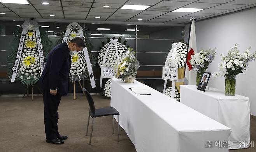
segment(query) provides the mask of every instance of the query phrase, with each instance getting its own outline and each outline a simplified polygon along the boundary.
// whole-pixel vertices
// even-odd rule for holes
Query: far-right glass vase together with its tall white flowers
[[[214,72],[213,77],[224,76],[225,79],[225,95],[235,96],[235,77],[239,73],[243,73],[249,62],[256,59],[256,52],[250,53],[249,47],[243,54],[237,49],[237,44],[234,48],[228,51],[226,56],[221,54],[222,61],[219,67],[219,72]]]

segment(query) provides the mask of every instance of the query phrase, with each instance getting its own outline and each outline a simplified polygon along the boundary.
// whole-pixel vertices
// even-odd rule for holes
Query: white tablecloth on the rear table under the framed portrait
[[[225,96],[223,91],[210,87],[205,92],[195,85],[182,85],[181,103],[228,126],[232,129],[229,137],[230,149],[240,149],[235,144],[250,141],[250,102],[249,98],[236,95]],[[247,148],[247,147],[244,147]]]

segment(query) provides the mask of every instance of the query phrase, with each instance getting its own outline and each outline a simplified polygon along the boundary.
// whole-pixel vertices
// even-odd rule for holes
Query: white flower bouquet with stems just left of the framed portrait
[[[196,86],[200,83],[203,72],[205,72],[209,64],[214,60],[216,55],[216,48],[203,50],[201,49],[199,53],[195,53],[191,56],[189,62],[191,63],[193,69],[196,71]]]

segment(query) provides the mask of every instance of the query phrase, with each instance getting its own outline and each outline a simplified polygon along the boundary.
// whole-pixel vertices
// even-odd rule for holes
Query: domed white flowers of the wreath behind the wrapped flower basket
[[[105,63],[103,63],[103,59],[105,56],[105,53],[107,51],[107,48],[109,47],[109,51],[107,52],[107,56],[105,59]],[[127,51],[127,47],[125,47],[125,45],[117,42],[117,52],[118,52],[118,56],[123,56]],[[98,56],[98,64],[99,66],[103,65],[103,66],[107,66],[107,67],[113,67],[114,63],[116,62],[116,47],[114,43],[107,43],[105,44],[102,49],[100,50],[99,56]]]

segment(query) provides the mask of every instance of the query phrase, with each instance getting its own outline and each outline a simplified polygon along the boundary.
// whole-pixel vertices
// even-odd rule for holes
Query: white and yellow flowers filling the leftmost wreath
[[[37,75],[41,74],[39,53],[37,51],[37,42],[34,31],[26,31],[26,36],[21,54],[21,62],[19,63],[20,78],[37,79]]]

